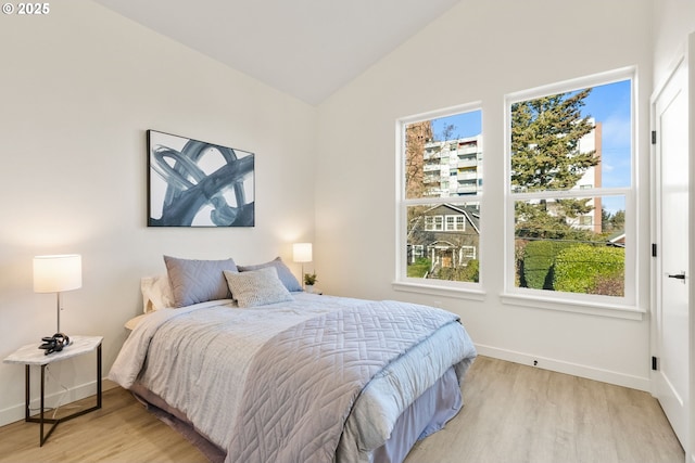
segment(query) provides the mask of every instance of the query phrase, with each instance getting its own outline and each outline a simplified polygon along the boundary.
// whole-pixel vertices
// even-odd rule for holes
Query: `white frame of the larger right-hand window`
[[[624,188],[580,188],[577,190],[545,190],[541,192],[515,192],[511,188],[511,105],[521,101],[534,100],[542,97],[563,92],[572,92],[590,87],[630,80],[630,115],[631,115],[631,146],[630,146],[630,184]],[[636,112],[636,68],[626,67],[607,73],[566,80],[548,86],[536,87],[508,93],[504,98],[504,137],[505,137],[505,177],[504,177],[504,290],[502,300],[506,304],[520,305],[535,308],[556,309],[563,311],[576,311],[583,313],[602,314],[628,319],[641,319],[644,309],[637,307],[637,271],[639,256],[636,246],[640,242],[637,235],[637,127]],[[626,201],[626,243],[624,263],[624,295],[604,296],[580,293],[566,293],[547,290],[534,290],[517,287],[515,262],[515,202],[543,198],[570,198],[570,197],[606,197],[624,196]]]

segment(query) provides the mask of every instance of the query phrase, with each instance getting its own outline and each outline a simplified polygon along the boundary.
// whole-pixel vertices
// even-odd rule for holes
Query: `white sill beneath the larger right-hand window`
[[[558,300],[538,296],[505,293],[500,296],[503,304],[529,307],[533,309],[559,310],[563,312],[585,313],[623,320],[644,320],[645,311],[633,306],[619,304],[596,304],[581,300]]]

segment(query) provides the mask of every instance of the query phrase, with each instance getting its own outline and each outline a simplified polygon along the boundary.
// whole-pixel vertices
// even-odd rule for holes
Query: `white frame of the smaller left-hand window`
[[[396,160],[396,223],[395,223],[395,280],[392,283],[392,286],[396,291],[419,293],[419,294],[430,294],[437,296],[451,296],[455,294],[458,297],[463,297],[471,300],[483,300],[485,293],[483,291],[483,281],[482,281],[482,272],[480,272],[479,281],[476,282],[459,282],[459,281],[447,281],[447,280],[424,280],[424,279],[415,279],[407,276],[407,208],[408,206],[418,206],[418,205],[434,205],[434,204],[468,204],[476,203],[482,209],[482,192],[464,195],[464,196],[455,196],[455,197],[421,197],[421,198],[407,198],[406,197],[406,181],[405,181],[405,153],[406,153],[406,137],[405,137],[405,128],[408,125],[417,124],[426,120],[438,119],[442,117],[447,117],[462,113],[471,113],[480,111],[481,119],[482,119],[482,102],[475,101],[462,105],[450,106],[442,110],[437,110],[428,113],[421,113],[418,115],[413,115],[408,117],[403,117],[396,120],[395,124],[395,160]],[[483,140],[483,150],[484,150],[484,127],[481,120],[481,129],[480,137]],[[484,157],[483,157],[484,159]],[[484,160],[483,160],[484,162]],[[484,168],[483,168],[484,171]],[[483,182],[484,183],[484,182]],[[454,198],[455,201],[452,201]],[[446,219],[445,216],[441,216],[443,218],[442,221],[442,230],[446,231]],[[482,222],[482,218],[481,218]],[[481,227],[482,228],[482,227]],[[458,230],[455,230],[458,231]],[[465,230],[464,230],[465,231]],[[482,247],[483,242],[482,233],[479,235],[478,248]],[[480,262],[482,267],[482,261]]]

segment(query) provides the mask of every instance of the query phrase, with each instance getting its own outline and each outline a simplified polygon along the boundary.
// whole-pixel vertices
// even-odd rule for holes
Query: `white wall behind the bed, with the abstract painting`
[[[104,336],[105,375],[162,254],[291,260],[313,239],[315,107],[91,1],[3,15],[0,43],[0,358],[55,331],[55,296],[31,292],[35,255],[83,255],[62,329]],[[255,228],[147,228],[147,129],[254,152]],[[93,363],[51,366],[50,391],[56,378],[96,390]],[[0,424],[24,416],[23,373],[0,363]]]

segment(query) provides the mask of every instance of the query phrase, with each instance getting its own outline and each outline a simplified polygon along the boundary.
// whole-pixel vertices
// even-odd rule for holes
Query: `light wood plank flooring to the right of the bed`
[[[464,409],[405,463],[682,463],[647,393],[479,357]]]

